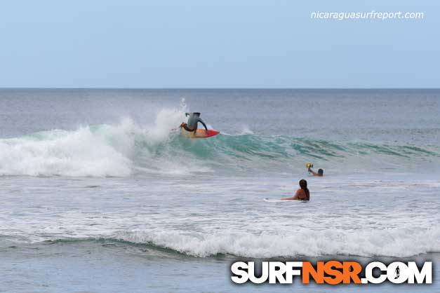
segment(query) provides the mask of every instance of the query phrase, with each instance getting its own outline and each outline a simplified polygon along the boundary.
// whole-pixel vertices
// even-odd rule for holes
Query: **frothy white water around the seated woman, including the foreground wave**
[[[440,207],[435,202],[440,184],[435,179],[306,179],[309,203],[262,200],[292,193],[297,187],[288,178],[266,182],[236,177],[227,184],[212,175],[192,182],[152,177],[108,184],[93,179],[76,191],[61,189],[50,196],[29,189],[20,196],[26,205],[4,205],[11,208],[0,219],[0,234],[26,243],[111,238],[196,257],[440,252]],[[5,185],[13,189],[7,181]],[[417,193],[418,198],[411,196]]]

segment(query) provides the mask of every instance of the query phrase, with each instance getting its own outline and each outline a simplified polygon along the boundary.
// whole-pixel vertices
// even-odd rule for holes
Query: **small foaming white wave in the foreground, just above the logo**
[[[194,257],[232,254],[238,257],[317,257],[352,255],[361,257],[411,257],[440,252],[440,229],[389,229],[346,231],[300,229],[295,236],[262,233],[181,233],[180,231],[133,231],[118,233],[117,240],[168,248]]]

